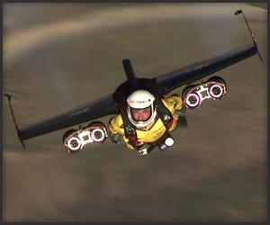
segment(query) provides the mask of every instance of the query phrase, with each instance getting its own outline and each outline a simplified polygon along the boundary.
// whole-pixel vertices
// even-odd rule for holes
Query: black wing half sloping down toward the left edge
[[[112,99],[112,94],[106,95],[91,103],[85,103],[73,110],[64,112],[47,121],[41,121],[23,129],[17,129],[19,138],[23,142],[24,139],[49,133],[54,130],[64,129],[85,121],[92,121],[97,118],[117,114],[118,109]]]

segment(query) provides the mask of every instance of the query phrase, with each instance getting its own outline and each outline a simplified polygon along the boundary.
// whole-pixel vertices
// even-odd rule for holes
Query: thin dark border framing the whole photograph
[[[0,22],[1,22],[1,27],[0,27],[0,31],[1,31],[1,62],[0,62],[0,68],[1,68],[1,73],[0,73],[0,124],[1,124],[1,128],[0,128],[0,168],[1,168],[1,176],[0,176],[0,223],[3,224],[7,224],[7,222],[3,222],[3,5],[4,3],[249,3],[249,4],[254,4],[254,5],[258,5],[258,4],[267,4],[267,37],[269,37],[269,4],[268,4],[268,0],[224,0],[224,1],[217,1],[217,0],[205,0],[203,2],[199,1],[199,0],[169,0],[169,1],[165,1],[165,0],[49,0],[49,1],[45,1],[45,0],[1,0],[1,4],[0,4]],[[268,40],[268,39],[267,39]],[[203,222],[203,224],[219,224],[219,225],[228,225],[228,224],[269,224],[270,220],[269,220],[269,216],[270,216],[270,210],[269,210],[269,202],[270,202],[270,194],[269,194],[269,139],[268,139],[268,128],[269,128],[269,103],[268,103],[268,96],[269,96],[269,82],[270,79],[268,78],[268,72],[269,72],[269,64],[268,64],[268,56],[269,56],[269,44],[267,42],[267,171],[266,171],[266,188],[267,188],[267,220],[265,222]],[[17,223],[17,222],[16,222]],[[39,224],[42,223],[46,223],[46,222],[39,222]],[[84,222],[84,223],[91,223],[91,222]],[[104,222],[101,222],[104,223]],[[133,223],[133,222],[127,222],[127,223]],[[168,224],[169,222],[161,222],[161,224]],[[202,224],[202,222],[189,222],[189,223],[185,223],[185,222],[179,222],[181,224]],[[8,222],[8,224],[14,224],[13,222]],[[34,223],[35,224],[35,223]],[[76,222],[65,222],[65,224],[76,224]]]

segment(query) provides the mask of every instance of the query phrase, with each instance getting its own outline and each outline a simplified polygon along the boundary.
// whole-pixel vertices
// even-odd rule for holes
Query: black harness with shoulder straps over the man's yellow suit
[[[171,112],[168,111],[168,109],[161,100],[162,96],[158,91],[156,80],[140,78],[138,79],[138,83],[138,89],[147,90],[155,96],[157,110],[156,120],[160,119],[166,126],[166,131],[169,130],[173,124],[173,115]],[[130,83],[125,82],[116,89],[113,94],[113,98],[115,103],[117,103],[119,111],[121,112],[125,137],[126,139],[129,139],[129,144],[133,148],[138,148],[141,143],[138,141],[136,127],[129,120],[127,113],[128,104],[126,103],[127,97],[134,91],[136,90],[131,88]]]

